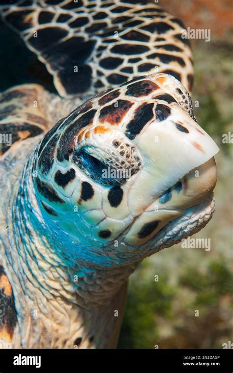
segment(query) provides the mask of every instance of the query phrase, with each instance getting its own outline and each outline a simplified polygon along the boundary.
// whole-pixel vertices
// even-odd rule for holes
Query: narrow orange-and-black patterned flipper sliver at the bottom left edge
[[[3,266],[0,264],[0,348],[11,348],[16,325],[14,295]]]

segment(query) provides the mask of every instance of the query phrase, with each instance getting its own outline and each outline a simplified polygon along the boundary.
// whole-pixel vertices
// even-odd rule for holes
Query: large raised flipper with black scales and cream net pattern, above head
[[[153,2],[10,4],[5,0],[0,7],[3,21],[46,65],[62,97],[91,97],[155,72],[173,75],[189,92],[192,88],[192,55],[182,38],[184,26]]]

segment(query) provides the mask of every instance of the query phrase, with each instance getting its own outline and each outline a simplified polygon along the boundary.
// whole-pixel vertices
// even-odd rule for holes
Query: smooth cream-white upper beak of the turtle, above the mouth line
[[[144,164],[141,172],[135,175],[129,192],[128,204],[133,215],[145,211],[151,203],[192,170],[198,171],[198,167],[211,160],[219,148],[181,107],[175,105],[166,120],[148,125],[139,138],[137,150]],[[192,192],[196,201],[200,197],[200,188],[203,185],[211,190],[216,183],[214,160],[206,163],[199,171],[204,174],[202,182],[198,182],[199,176],[192,177],[193,185],[197,187],[196,192]],[[213,177],[208,180],[209,173],[213,174]],[[198,172],[196,174],[198,175]],[[188,193],[188,190],[186,192]]]

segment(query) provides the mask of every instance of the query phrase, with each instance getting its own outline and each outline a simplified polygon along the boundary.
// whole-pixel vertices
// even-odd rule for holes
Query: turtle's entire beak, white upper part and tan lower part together
[[[137,149],[144,164],[129,190],[128,205],[135,219],[125,241],[140,246],[169,222],[185,216],[188,209],[212,196],[217,180],[213,156],[219,148],[176,105],[169,120],[147,127]]]

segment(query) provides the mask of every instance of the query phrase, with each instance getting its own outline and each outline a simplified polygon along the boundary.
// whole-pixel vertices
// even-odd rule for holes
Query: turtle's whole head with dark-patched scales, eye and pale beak
[[[78,247],[140,260],[211,218],[217,152],[178,80],[139,77],[90,99],[46,134],[37,198],[54,229]]]

